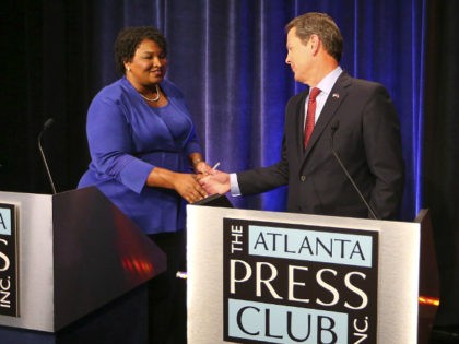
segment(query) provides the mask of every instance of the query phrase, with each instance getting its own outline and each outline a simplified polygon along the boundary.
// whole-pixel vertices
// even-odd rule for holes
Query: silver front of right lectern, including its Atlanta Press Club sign
[[[416,343],[419,224],[187,211],[188,343]]]

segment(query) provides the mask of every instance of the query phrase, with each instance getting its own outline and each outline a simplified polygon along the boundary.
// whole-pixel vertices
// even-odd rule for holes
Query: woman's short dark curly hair
[[[156,43],[167,55],[167,41],[164,35],[152,26],[136,26],[121,29],[115,40],[115,64],[121,73],[126,73],[125,62],[131,61],[136,50],[144,39],[151,39]]]

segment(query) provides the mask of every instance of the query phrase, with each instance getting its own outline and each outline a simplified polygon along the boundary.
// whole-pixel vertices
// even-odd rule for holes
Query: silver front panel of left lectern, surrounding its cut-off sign
[[[0,192],[14,204],[17,226],[19,317],[0,316],[3,325],[54,329],[52,197]]]

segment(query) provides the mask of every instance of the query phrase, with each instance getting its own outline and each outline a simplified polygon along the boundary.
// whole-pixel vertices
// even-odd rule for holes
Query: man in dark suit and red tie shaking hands
[[[222,194],[229,189],[233,194],[254,194],[289,185],[290,212],[397,218],[404,165],[388,92],[341,69],[343,39],[327,14],[303,14],[285,32],[285,62],[310,92],[287,103],[280,162],[232,175],[213,171],[200,183],[208,193]]]

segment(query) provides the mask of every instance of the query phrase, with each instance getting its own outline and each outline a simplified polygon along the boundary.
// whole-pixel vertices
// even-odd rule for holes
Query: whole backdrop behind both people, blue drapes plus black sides
[[[0,189],[24,192],[50,192],[36,142],[49,117],[44,147],[58,191],[73,189],[85,170],[86,109],[118,78],[113,43],[123,26],[166,35],[167,78],[186,94],[210,163],[226,171],[275,163],[284,106],[305,88],[284,62],[284,25],[303,12],[329,13],[345,39],[342,67],[393,98],[407,164],[402,218],[432,209],[442,273],[454,275],[443,284],[439,318],[459,322],[457,2],[22,0],[0,11]],[[232,201],[283,211],[285,189]]]

